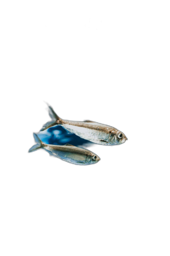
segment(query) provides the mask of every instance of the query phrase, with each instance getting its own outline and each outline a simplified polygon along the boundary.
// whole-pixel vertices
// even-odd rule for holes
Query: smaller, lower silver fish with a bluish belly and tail
[[[70,144],[63,146],[49,145],[43,143],[37,134],[33,134],[36,145],[32,146],[28,152],[32,152],[38,149],[45,149],[51,156],[57,157],[68,163],[74,163],[77,165],[88,165],[99,162],[100,158],[84,148],[78,148]]]

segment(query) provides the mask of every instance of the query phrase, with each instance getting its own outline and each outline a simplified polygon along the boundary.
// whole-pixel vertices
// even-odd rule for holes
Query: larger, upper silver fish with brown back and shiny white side
[[[127,140],[125,134],[108,125],[102,125],[89,120],[84,122],[62,120],[57,116],[51,106],[48,106],[48,114],[52,121],[46,122],[40,131],[44,131],[55,125],[61,125],[68,132],[97,144],[119,145]]]

